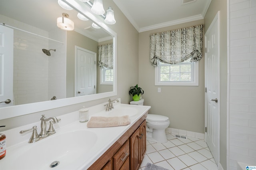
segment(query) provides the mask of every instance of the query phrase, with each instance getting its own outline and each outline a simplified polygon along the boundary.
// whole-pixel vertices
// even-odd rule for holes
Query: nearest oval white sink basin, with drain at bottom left
[[[48,138],[27,144],[23,148],[20,146],[13,153],[9,152],[11,157],[8,158],[10,162],[8,169],[20,170],[20,167],[26,170],[68,169],[72,165],[76,166],[74,162],[94,146],[96,140],[96,134],[88,130],[62,134],[57,132]],[[59,165],[50,168],[50,164],[54,161],[59,161]]]

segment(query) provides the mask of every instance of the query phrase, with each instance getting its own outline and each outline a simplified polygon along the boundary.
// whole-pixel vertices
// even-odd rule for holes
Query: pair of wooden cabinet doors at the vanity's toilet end
[[[146,152],[146,121],[130,136],[130,168],[138,170]]]

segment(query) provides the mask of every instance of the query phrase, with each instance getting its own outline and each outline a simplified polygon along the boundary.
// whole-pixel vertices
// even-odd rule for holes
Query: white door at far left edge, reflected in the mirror
[[[10,99],[10,103],[5,103]],[[0,107],[13,105],[13,30],[0,25]]]

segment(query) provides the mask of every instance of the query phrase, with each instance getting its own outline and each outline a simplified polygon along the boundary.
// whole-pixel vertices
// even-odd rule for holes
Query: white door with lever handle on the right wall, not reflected
[[[220,69],[219,69],[219,12],[205,36],[205,126],[206,143],[216,164],[219,162],[220,141]]]

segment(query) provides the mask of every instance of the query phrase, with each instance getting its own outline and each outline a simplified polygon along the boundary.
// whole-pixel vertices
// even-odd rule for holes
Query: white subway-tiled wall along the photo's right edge
[[[229,164],[256,165],[256,0],[230,0]]]

